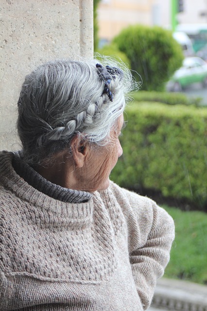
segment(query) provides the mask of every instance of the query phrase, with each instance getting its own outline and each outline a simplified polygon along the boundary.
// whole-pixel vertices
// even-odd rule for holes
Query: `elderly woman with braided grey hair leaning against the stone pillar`
[[[22,151],[0,153],[0,310],[142,311],[174,225],[109,174],[122,154],[127,70],[57,60],[26,76]]]

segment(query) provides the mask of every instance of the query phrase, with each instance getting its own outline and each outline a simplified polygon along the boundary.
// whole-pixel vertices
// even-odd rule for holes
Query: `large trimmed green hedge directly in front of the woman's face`
[[[111,178],[122,187],[207,206],[207,108],[135,103],[126,109],[123,155]]]

